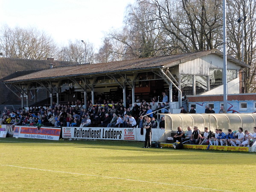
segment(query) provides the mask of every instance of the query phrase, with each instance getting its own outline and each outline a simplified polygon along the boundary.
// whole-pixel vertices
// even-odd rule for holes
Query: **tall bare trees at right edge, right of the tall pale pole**
[[[256,2],[255,0],[227,1],[228,54],[242,60],[242,30],[244,33],[244,62],[250,69],[244,70],[245,92],[256,92]],[[244,16],[247,16],[243,20]],[[242,22],[237,20],[242,18]]]

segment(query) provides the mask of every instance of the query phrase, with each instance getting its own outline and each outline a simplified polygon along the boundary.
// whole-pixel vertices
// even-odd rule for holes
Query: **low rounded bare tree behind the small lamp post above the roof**
[[[58,52],[58,60],[74,61],[79,63],[93,63],[94,50],[93,45],[89,42],[85,45],[80,41],[69,41],[67,46],[61,47]]]

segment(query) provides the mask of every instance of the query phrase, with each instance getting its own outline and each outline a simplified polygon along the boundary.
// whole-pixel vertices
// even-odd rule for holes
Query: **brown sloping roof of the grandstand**
[[[12,82],[22,82],[22,81],[36,81],[42,79],[58,79],[64,78],[67,76],[87,76],[87,75],[96,75],[96,74],[105,74],[121,71],[134,71],[134,70],[143,70],[149,68],[162,68],[162,67],[171,67],[182,62],[199,58],[204,55],[215,53],[217,55],[223,55],[222,52],[217,49],[201,51],[201,52],[192,52],[179,55],[168,55],[168,56],[158,56],[150,58],[139,58],[134,60],[126,61],[115,61],[110,63],[99,63],[99,64],[86,64],[74,66],[56,66],[52,69],[46,69],[37,71],[35,73],[19,76],[13,79],[6,80],[6,83]],[[239,64],[241,67],[250,67],[249,65],[228,56],[227,59],[232,61],[235,64]]]

